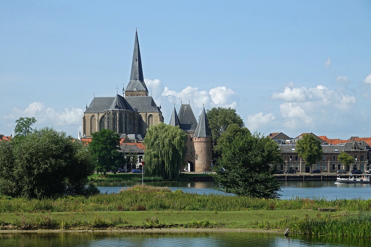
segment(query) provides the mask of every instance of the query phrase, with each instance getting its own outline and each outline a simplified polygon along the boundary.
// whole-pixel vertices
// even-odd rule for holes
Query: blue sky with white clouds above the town
[[[369,0],[0,0],[0,134],[35,117],[77,137],[93,96],[127,86],[136,29],[165,123],[189,101],[263,135],[371,136]]]

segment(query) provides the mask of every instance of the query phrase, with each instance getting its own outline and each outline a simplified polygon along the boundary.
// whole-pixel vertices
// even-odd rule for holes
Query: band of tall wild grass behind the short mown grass
[[[336,210],[370,211],[371,200],[324,198],[290,200],[259,199],[248,196],[199,195],[172,192],[168,188],[136,185],[118,194],[98,194],[90,197],[65,196],[26,200],[0,197],[0,213],[15,212],[83,212],[83,211],[143,211],[143,210],[197,210],[197,211],[242,211],[242,210],[317,210],[321,207]]]

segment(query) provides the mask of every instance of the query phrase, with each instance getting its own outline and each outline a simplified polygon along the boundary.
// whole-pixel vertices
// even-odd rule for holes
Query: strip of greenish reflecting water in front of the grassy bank
[[[114,232],[114,233],[9,233],[0,234],[0,246],[63,246],[63,247],[134,247],[134,246],[368,246],[367,240],[354,238],[294,236],[284,237],[274,233],[246,232],[164,232],[144,233]]]

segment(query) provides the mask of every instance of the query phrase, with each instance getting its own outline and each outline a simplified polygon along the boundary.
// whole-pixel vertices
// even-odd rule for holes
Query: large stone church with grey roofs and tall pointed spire
[[[82,118],[82,133],[91,138],[92,133],[110,129],[118,134],[145,135],[151,125],[164,122],[161,106],[157,106],[144,83],[138,34],[135,31],[134,52],[128,86],[122,95],[95,97],[86,106]]]

